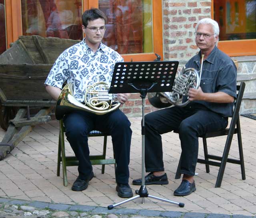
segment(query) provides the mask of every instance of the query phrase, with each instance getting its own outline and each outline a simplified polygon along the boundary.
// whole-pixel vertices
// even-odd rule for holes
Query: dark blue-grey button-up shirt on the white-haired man
[[[200,72],[201,53],[191,58],[186,68],[195,68]],[[229,56],[216,46],[203,62],[200,87],[203,92],[225,92],[236,98],[236,66]],[[232,116],[234,103],[214,103],[206,101],[193,101],[189,104],[203,104],[209,110],[221,114],[223,117]]]

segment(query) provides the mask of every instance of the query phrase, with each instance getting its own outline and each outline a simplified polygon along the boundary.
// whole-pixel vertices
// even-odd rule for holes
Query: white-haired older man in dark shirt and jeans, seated
[[[196,25],[195,40],[200,52],[192,57],[186,68],[199,71],[204,54],[202,77],[198,89],[190,88],[189,103],[174,106],[145,116],[145,184],[168,184],[164,172],[161,134],[178,129],[182,148],[180,186],[176,196],[185,196],[196,190],[194,175],[198,157],[198,137],[206,132],[220,130],[228,125],[236,98],[236,66],[217,48],[219,26],[210,18]],[[135,185],[141,179],[133,180]]]

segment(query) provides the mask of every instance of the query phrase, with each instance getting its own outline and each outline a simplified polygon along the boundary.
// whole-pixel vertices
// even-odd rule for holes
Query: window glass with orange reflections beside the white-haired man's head
[[[214,0],[220,40],[256,38],[256,0]]]

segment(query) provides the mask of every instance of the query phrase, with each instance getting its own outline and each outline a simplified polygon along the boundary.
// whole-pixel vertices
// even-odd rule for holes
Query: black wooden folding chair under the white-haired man
[[[233,115],[232,115],[232,119],[231,119],[229,128],[226,128],[226,129],[220,130],[220,131],[216,131],[216,132],[208,132],[205,135],[200,136],[203,139],[204,159],[198,158],[197,162],[201,163],[201,164],[205,164],[207,173],[210,172],[209,165],[220,167],[219,172],[218,172],[218,177],[216,180],[216,184],[215,184],[215,188],[218,188],[221,186],[221,182],[222,182],[222,178],[223,178],[223,174],[224,174],[224,170],[225,170],[227,162],[232,163],[232,164],[239,164],[241,166],[242,180],[245,180],[244,155],[243,155],[243,148],[242,148],[240,120],[239,120],[239,109],[240,109],[242,97],[244,94],[244,88],[245,88],[244,82],[241,82],[241,84],[239,86],[236,86],[236,90],[238,93],[237,93],[237,98],[236,98],[234,111],[233,111]],[[174,131],[174,132],[178,133],[178,131]],[[239,159],[228,158],[233,134],[237,134]],[[212,138],[212,137],[217,137],[217,136],[227,136],[226,144],[225,144],[222,156],[208,154],[206,138]],[[218,162],[211,161],[211,160],[217,160]],[[181,176],[180,171],[181,171],[181,158],[180,158],[180,161],[178,164],[175,179],[180,178],[180,176]]]

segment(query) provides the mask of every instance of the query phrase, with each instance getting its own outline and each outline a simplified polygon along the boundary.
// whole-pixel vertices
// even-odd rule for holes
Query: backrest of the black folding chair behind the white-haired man
[[[236,86],[236,90],[238,91],[238,93],[236,95],[236,102],[235,102],[235,106],[234,106],[232,120],[230,122],[230,131],[232,133],[234,133],[236,123],[238,122],[238,124],[239,124],[239,110],[240,110],[242,98],[244,95],[244,88],[245,88],[245,82],[241,82],[240,85]]]

